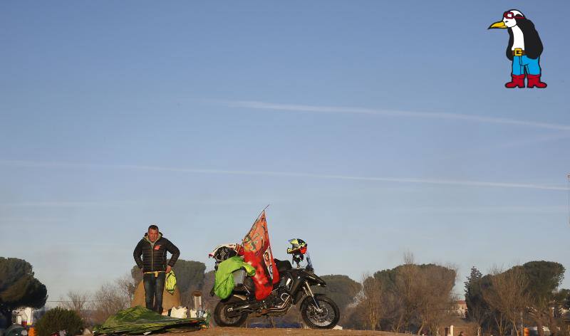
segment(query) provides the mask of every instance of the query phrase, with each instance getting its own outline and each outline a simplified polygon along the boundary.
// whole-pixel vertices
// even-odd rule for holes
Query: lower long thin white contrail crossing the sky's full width
[[[564,190],[564,191],[568,190],[568,188],[566,187],[552,186],[546,184],[484,182],[484,181],[455,180],[455,179],[423,179],[415,177],[360,177],[360,176],[337,175],[337,174],[315,174],[315,173],[306,173],[306,172],[271,172],[271,171],[259,171],[259,170],[193,169],[193,168],[179,168],[179,167],[142,166],[142,165],[132,165],[132,164],[83,164],[83,163],[73,163],[73,162],[36,162],[36,161],[0,160],[0,165],[14,166],[14,167],[32,167],[32,168],[44,167],[44,168],[135,169],[135,170],[148,170],[156,172],[182,172],[182,173],[197,173],[197,174],[252,175],[252,176],[273,176],[273,177],[305,177],[305,178],[316,178],[316,179],[338,179],[338,180],[371,181],[371,182],[442,184],[442,185],[456,185],[464,187],[504,187],[504,188]]]

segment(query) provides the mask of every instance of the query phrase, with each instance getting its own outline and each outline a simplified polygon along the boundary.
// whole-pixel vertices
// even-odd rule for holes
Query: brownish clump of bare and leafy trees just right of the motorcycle
[[[455,317],[454,266],[414,263],[363,276],[362,289],[345,312],[347,327],[437,335]],[[439,332],[440,333],[440,332]]]

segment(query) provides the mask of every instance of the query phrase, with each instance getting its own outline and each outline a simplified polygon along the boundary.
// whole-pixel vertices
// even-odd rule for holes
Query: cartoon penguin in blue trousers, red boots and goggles
[[[546,83],[540,81],[539,63],[543,47],[534,23],[517,9],[511,9],[504,12],[502,21],[489,26],[491,28],[507,28],[509,31],[507,58],[512,61],[512,80],[504,86],[524,88],[526,74],[527,88],[546,88]]]

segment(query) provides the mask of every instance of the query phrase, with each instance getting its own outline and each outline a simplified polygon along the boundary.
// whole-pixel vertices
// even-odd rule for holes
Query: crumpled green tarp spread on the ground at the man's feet
[[[103,325],[95,327],[94,335],[140,335],[145,332],[183,332],[207,327],[203,318],[176,318],[162,316],[140,305],[120,310]]]

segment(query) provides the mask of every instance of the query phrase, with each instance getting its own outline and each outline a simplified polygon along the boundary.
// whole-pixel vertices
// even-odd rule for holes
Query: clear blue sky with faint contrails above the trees
[[[545,90],[507,90],[516,8]],[[156,222],[203,261],[259,211],[316,271],[570,269],[567,1],[3,1],[0,256],[95,290]],[[6,239],[9,236],[11,238]],[[19,238],[14,238],[18,236]],[[564,286],[570,287],[566,272]]]

